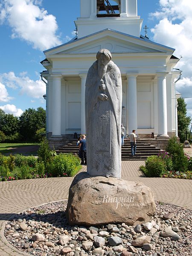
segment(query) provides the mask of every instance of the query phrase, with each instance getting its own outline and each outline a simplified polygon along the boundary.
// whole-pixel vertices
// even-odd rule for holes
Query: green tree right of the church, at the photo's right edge
[[[186,140],[185,132],[189,131],[189,124],[191,122],[191,118],[187,116],[186,103],[183,98],[177,99],[177,122],[178,122],[178,136],[180,138],[180,142],[184,142]]]

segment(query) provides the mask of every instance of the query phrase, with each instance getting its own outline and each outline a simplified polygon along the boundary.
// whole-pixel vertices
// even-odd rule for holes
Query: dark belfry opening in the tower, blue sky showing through
[[[119,17],[120,0],[97,0],[97,17]]]

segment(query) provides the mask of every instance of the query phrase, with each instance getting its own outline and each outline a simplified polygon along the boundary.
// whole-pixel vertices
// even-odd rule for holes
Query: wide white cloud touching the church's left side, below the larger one
[[[46,93],[46,85],[39,78],[34,81],[31,80],[26,73],[20,73],[20,76],[15,76],[14,72],[0,74],[0,81],[7,87],[18,89],[19,94],[26,94],[34,99],[41,99]]]

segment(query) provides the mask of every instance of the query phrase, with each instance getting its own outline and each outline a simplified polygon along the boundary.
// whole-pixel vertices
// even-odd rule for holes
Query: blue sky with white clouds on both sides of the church
[[[0,1],[0,108],[20,116],[28,108],[45,108],[40,72],[43,51],[74,37],[80,0]],[[177,90],[192,96],[191,0],[138,0],[138,15],[148,37],[176,49],[183,70]],[[141,34],[145,35],[144,29]],[[186,99],[192,116],[192,98]]]

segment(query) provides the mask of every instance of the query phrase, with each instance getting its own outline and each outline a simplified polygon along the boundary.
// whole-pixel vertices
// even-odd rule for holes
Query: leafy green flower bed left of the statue
[[[0,181],[71,177],[81,169],[80,162],[73,154],[50,154],[46,162],[33,156],[0,154]]]

